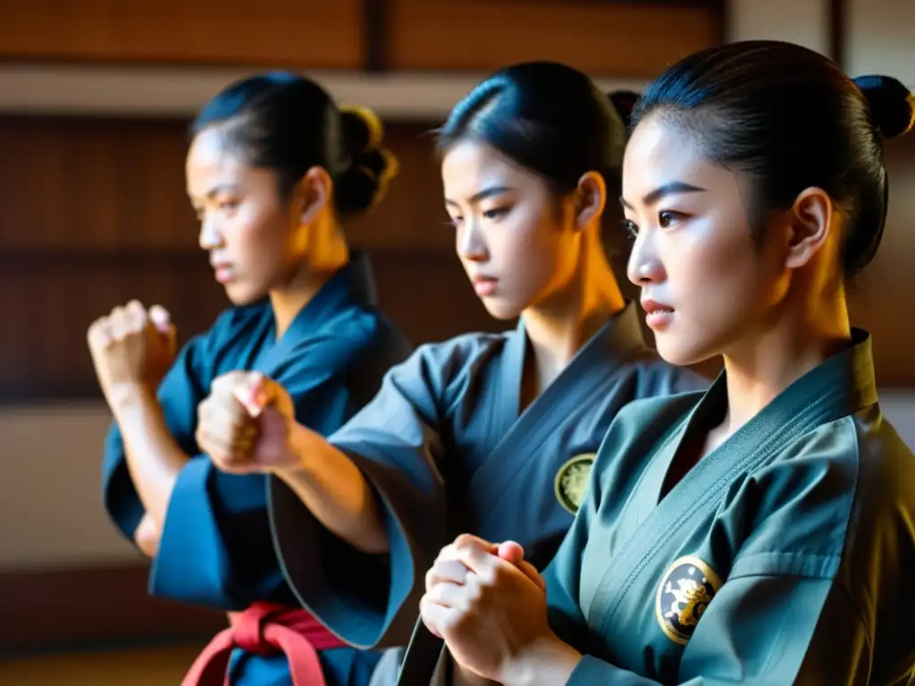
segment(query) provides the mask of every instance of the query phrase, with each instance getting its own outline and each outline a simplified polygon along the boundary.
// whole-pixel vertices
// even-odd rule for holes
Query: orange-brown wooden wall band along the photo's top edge
[[[720,0],[29,0],[0,5],[0,59],[492,70],[560,59],[651,76],[723,38]],[[50,19],[46,17],[51,17]]]

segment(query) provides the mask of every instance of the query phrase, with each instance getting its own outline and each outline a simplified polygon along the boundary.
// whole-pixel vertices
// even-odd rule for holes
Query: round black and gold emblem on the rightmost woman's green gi
[[[697,557],[681,557],[668,567],[654,603],[667,638],[685,646],[719,588],[721,578]]]

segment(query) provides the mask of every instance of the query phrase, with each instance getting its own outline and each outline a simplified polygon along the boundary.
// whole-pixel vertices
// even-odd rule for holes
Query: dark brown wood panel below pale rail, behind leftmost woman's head
[[[353,245],[451,253],[429,128],[388,128],[401,172],[346,227]],[[196,250],[185,131],[174,121],[0,118],[0,251]]]

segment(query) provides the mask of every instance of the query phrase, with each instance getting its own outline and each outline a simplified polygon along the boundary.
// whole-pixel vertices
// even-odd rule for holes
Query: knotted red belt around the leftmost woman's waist
[[[231,627],[203,648],[181,686],[228,686],[232,648],[261,656],[284,653],[293,686],[325,686],[318,650],[346,646],[303,609],[254,603],[229,619]]]

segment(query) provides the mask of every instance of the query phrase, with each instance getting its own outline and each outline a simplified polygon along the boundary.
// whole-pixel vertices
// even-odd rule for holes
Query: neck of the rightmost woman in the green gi
[[[845,293],[818,292],[804,306],[778,313],[778,325],[745,336],[725,353],[727,417],[733,434],[808,371],[848,347]]]

